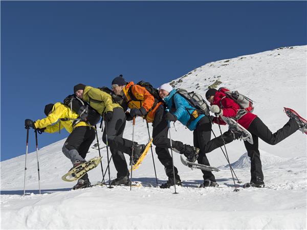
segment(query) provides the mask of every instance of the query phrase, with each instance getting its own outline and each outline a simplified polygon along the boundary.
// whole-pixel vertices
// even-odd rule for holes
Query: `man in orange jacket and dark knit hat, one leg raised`
[[[121,95],[127,101],[130,112],[126,112],[127,120],[134,117],[142,117],[147,123],[152,123],[152,143],[156,146],[158,159],[165,168],[168,180],[162,184],[160,188],[169,188],[174,185],[172,159],[168,149],[170,139],[168,134],[168,121],[165,119],[165,107],[162,100],[155,99],[145,87],[136,85],[134,82],[126,82],[120,75],[112,81],[112,89],[116,95]],[[198,149],[193,146],[184,145],[182,142],[173,141],[172,147],[174,151],[184,154],[189,161],[195,162]],[[181,185],[181,179],[178,170],[174,167],[176,185]]]

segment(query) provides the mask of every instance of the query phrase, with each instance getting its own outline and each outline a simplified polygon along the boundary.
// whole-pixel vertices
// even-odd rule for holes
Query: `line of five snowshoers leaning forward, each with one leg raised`
[[[176,185],[182,184],[178,169],[174,167],[173,170],[172,158],[169,153],[171,148],[170,139],[167,136],[169,122],[179,121],[190,131],[193,131],[193,146],[181,141],[171,140],[173,150],[184,154],[190,162],[195,162],[197,159],[199,164],[209,166],[207,153],[238,139],[239,133],[228,130],[211,140],[212,121],[213,123],[225,124],[218,116],[234,118],[240,110],[239,105],[232,99],[227,98],[222,91],[209,89],[206,92],[206,99],[211,104],[210,110],[216,116],[214,118],[196,110],[184,97],[177,94],[176,89],[173,89],[168,83],[161,85],[158,92],[158,95],[153,95],[152,92],[141,85],[134,84],[132,81],[126,82],[121,75],[113,79],[111,93],[84,84],[74,86],[76,97],[89,103],[105,121],[102,140],[104,143],[108,142],[113,163],[117,170],[117,178],[111,181],[111,185],[130,185],[129,170],[124,153],[129,156],[133,154],[131,158],[136,162],[145,148],[144,144],[123,138],[126,121],[130,121],[134,117],[142,117],[147,123],[152,123],[152,143],[156,146],[158,159],[168,176],[167,182],[163,183],[160,188],[169,188],[174,183]],[[119,96],[122,100],[115,100],[113,96]],[[127,108],[130,109],[129,112],[126,111]],[[95,127],[86,121],[76,122],[79,115],[69,106],[60,102],[46,105],[45,114],[46,118],[35,122],[26,119],[26,128],[31,127],[40,132],[48,133],[65,128],[70,135],[63,145],[63,154],[71,160],[73,167],[85,162],[86,153],[95,139]],[[268,144],[274,145],[296,130],[305,130],[306,127],[302,127],[297,119],[290,119],[286,125],[272,134],[268,127],[251,112],[244,114],[237,119],[237,122],[250,131],[253,137],[252,145],[244,142],[251,159],[251,181],[246,184],[246,187],[264,187],[258,137]],[[106,140],[106,136],[108,140]],[[134,164],[134,162],[131,164]],[[201,187],[218,186],[212,172],[202,172],[204,182]],[[90,185],[86,173],[78,180],[73,189],[86,188]]]

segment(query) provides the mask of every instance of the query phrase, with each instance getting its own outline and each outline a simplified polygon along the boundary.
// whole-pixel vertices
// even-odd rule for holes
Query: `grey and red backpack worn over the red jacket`
[[[228,88],[225,87],[221,87],[217,91],[226,94],[226,97],[232,99],[235,103],[237,103],[240,106],[241,109],[244,109],[247,112],[252,112],[254,110],[254,105],[253,105],[254,102],[245,95],[240,94],[238,91],[230,91]]]

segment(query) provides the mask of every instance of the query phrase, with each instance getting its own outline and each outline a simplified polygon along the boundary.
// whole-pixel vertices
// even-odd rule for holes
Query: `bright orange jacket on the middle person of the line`
[[[156,110],[163,104],[163,102],[158,102],[155,104],[155,98],[146,90],[146,88],[140,85],[135,85],[133,81],[130,81],[123,88],[123,92],[126,97],[128,107],[143,107],[147,111],[146,116],[143,118],[145,118],[148,123],[153,122]]]

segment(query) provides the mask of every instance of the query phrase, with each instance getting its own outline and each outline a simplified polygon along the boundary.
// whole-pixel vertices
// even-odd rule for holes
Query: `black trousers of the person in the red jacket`
[[[286,125],[277,132],[272,133],[270,129],[256,117],[247,129],[253,136],[254,144],[244,142],[247,154],[251,159],[251,182],[263,181],[264,174],[261,169],[260,153],[258,150],[258,137],[270,145],[276,145],[299,129],[294,119],[290,119]]]

